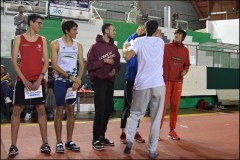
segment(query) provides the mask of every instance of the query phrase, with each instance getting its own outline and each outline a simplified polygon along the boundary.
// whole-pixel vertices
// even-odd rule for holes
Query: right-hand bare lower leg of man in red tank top
[[[40,133],[42,136],[43,144],[47,143],[47,116],[45,112],[44,105],[37,105],[36,106],[38,112],[38,124],[40,127]]]

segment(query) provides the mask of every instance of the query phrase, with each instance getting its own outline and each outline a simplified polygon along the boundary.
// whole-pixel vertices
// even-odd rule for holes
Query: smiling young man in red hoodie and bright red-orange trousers
[[[166,95],[160,129],[162,128],[164,115],[170,101],[170,131],[168,137],[174,140],[180,140],[174,129],[176,128],[178,118],[183,76],[187,74],[190,66],[189,51],[182,43],[185,37],[186,32],[182,29],[177,29],[174,32],[173,42],[165,44],[164,47],[163,78],[166,85]]]

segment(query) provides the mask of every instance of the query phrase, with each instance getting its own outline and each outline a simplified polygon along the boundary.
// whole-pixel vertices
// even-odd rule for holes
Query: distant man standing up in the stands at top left
[[[25,15],[24,7],[18,7],[18,14],[14,16],[14,25],[17,26],[15,36],[21,35],[27,31],[27,15]]]

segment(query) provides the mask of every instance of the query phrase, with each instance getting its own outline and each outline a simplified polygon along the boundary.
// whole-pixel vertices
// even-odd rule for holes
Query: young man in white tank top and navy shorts
[[[53,41],[51,44],[52,67],[55,72],[54,94],[56,100],[56,115],[54,118],[54,127],[57,138],[56,153],[64,153],[62,142],[62,114],[66,103],[67,111],[67,140],[65,148],[79,152],[78,147],[72,141],[74,128],[74,103],[77,90],[81,85],[81,79],[84,71],[83,49],[82,45],[75,41],[77,23],[73,20],[67,20],[62,23],[64,36]],[[77,60],[79,65],[77,65]]]

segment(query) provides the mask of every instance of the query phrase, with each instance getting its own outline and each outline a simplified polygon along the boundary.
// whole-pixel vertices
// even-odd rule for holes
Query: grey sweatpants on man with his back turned
[[[160,121],[164,108],[165,91],[165,86],[133,91],[127,129],[127,141],[134,143],[138,121],[140,118],[144,117],[150,102],[151,128],[148,139],[148,150],[151,153],[157,150]]]

